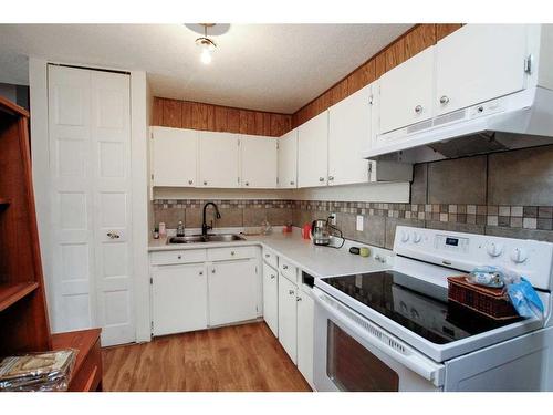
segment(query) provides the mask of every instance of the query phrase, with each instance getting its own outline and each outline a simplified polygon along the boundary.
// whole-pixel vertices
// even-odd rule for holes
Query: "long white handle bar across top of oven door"
[[[315,293],[314,298],[319,305],[321,305],[328,314],[331,314],[336,320],[336,322],[340,322],[340,325],[349,330],[359,339],[363,339],[363,341],[378,349],[380,352],[385,353],[396,362],[410,369],[411,371],[419,374],[427,381],[432,382],[436,386],[442,385],[444,365],[430,361],[428,357],[408,347],[403,342],[394,339],[390,334],[385,332],[378,325],[363,318],[363,320],[366,320],[367,324],[369,324],[376,332],[380,332],[385,336],[385,339],[389,339],[390,341],[400,344],[403,347],[405,347],[406,351],[405,354],[398,352],[396,349],[387,344],[385,341],[377,339],[374,334],[372,334],[365,328],[359,325],[355,320],[349,318],[347,314],[341,312],[340,310],[337,310],[337,308],[328,304],[326,300],[326,298],[328,297],[325,293],[319,291]],[[334,302],[335,300],[331,299],[330,301]]]

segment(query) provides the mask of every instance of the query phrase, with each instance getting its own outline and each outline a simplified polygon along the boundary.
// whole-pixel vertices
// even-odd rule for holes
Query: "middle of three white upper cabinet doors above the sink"
[[[199,187],[239,187],[238,134],[198,133]]]

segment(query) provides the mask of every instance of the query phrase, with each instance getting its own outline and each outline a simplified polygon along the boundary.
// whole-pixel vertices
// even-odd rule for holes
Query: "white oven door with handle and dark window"
[[[317,391],[441,391],[445,366],[314,289]]]

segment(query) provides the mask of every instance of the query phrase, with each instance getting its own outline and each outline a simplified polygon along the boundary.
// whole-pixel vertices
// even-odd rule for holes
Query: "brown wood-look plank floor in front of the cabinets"
[[[104,391],[311,391],[264,322],[102,353]]]

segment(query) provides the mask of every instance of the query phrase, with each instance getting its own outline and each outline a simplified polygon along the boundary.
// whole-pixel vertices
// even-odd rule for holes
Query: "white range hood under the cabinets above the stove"
[[[378,135],[363,157],[422,163],[553,144],[553,91],[535,86]]]

